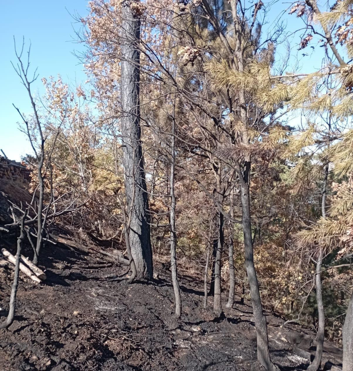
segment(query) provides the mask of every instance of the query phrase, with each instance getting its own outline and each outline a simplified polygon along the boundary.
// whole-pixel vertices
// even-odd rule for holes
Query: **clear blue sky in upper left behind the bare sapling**
[[[61,74],[64,81],[77,83],[85,81],[83,66],[72,55],[81,45],[74,43],[76,35],[71,14],[87,14],[86,0],[32,0],[1,1],[0,22],[0,148],[7,157],[19,160],[21,155],[30,153],[25,135],[18,129],[19,114],[31,112],[25,88],[21,85],[10,61],[15,61],[13,36],[17,45],[22,45],[25,36],[26,46],[31,47],[31,66],[38,67],[39,78],[33,84],[34,93],[43,93],[41,78]],[[66,8],[66,9],[65,9]],[[73,28],[74,27],[74,28]],[[6,133],[6,135],[4,135]]]

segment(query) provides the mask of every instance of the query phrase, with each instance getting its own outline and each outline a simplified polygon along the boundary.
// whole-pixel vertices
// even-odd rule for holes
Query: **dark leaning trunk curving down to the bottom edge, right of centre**
[[[250,297],[253,308],[254,322],[256,328],[256,340],[258,361],[267,371],[277,371],[278,368],[272,363],[268,349],[268,332],[266,317],[263,315],[263,309],[260,299],[259,283],[254,265],[254,253],[252,245],[251,219],[250,219],[250,194],[248,177],[250,173],[250,161],[245,164],[244,182],[241,182],[241,200],[242,200],[242,226],[245,248],[245,269],[250,286]]]

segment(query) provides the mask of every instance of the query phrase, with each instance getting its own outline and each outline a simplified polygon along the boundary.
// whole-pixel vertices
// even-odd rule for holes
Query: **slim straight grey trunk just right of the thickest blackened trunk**
[[[175,114],[175,109],[173,108],[173,116]],[[181,296],[180,288],[178,282],[177,273],[177,233],[175,230],[175,208],[177,201],[174,193],[174,168],[175,168],[175,118],[172,120],[172,138],[171,138],[171,172],[170,172],[170,196],[171,196],[171,211],[170,211],[170,244],[171,244],[171,271],[172,271],[172,282],[174,288],[175,297],[175,314],[177,317],[181,316]]]

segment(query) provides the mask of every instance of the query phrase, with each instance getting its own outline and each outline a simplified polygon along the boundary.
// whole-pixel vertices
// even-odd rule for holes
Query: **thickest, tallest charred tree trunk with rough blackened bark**
[[[129,241],[137,278],[153,278],[150,215],[140,127],[140,19],[123,1],[121,104],[122,146],[127,205],[132,207]],[[131,196],[135,187],[135,200]],[[128,210],[129,213],[129,210]]]

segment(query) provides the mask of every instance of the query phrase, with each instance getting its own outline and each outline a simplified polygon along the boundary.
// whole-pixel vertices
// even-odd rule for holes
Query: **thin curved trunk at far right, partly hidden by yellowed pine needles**
[[[324,183],[322,189],[321,198],[321,213],[323,217],[326,217],[326,190],[327,190],[327,178],[328,178],[328,163],[325,165],[324,170]],[[324,302],[322,294],[322,282],[321,282],[321,267],[323,263],[323,249],[320,247],[319,255],[317,257],[316,269],[315,269],[315,289],[316,289],[316,303],[318,312],[318,324],[317,324],[317,344],[314,361],[308,367],[308,371],[317,371],[321,364],[321,358],[323,355],[324,347],[324,335],[325,335],[325,312]],[[352,335],[353,336],[353,335]]]

